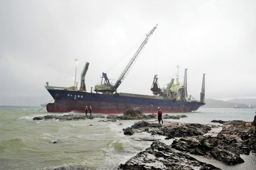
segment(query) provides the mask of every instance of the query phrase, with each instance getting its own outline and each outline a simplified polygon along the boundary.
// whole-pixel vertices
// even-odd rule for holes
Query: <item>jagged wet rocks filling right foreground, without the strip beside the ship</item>
[[[145,120],[137,122],[132,127],[123,129],[124,134],[133,135],[134,133],[148,132],[181,138],[176,138],[170,146],[154,141],[150,148],[138,153],[135,157],[125,162],[125,164],[121,164],[119,168],[169,169],[171,167],[171,169],[219,169],[212,165],[205,165],[202,162],[197,162],[195,165],[194,162],[173,160],[173,157],[177,158],[179,154],[170,148],[179,150],[183,154],[188,152],[206,157],[207,159],[214,158],[227,165],[243,163],[244,160],[240,157],[240,154],[248,155],[250,152],[256,152],[256,116],[252,123],[241,120],[228,122],[219,120],[219,122],[223,123],[222,131],[213,137],[203,135],[210,130],[210,126],[207,125],[175,123],[161,125],[146,122]],[[160,151],[159,147],[161,148]],[[154,160],[151,158],[154,158]],[[186,159],[188,158],[186,157]],[[169,166],[169,164],[172,164],[172,166]]]

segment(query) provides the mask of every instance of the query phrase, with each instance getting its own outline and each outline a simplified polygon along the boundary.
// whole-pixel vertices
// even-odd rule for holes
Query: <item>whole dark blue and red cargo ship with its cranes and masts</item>
[[[196,111],[200,106],[205,105],[205,74],[203,74],[200,102],[195,101],[188,98],[187,95],[187,69],[185,69],[183,84],[179,83],[179,77],[177,77],[176,82],[174,82],[174,79],[172,79],[170,83],[167,84],[167,87],[162,89],[159,88],[158,78],[157,75],[155,75],[151,88],[153,95],[117,92],[117,88],[134,65],[140,52],[143,50],[144,46],[156,29],[157,25],[146,34],[146,38],[136,51],[133,58],[122,71],[120,77],[114,85],[110,83],[106,74],[102,72],[101,84],[95,85],[94,92],[92,87],[91,91],[88,92],[86,90],[85,75],[89,68],[89,62],[86,62],[81,73],[79,90],[77,88],[76,76],[74,86],[71,87],[49,86],[49,83],[47,82],[45,88],[54,99],[54,103],[47,104],[47,111],[84,113],[86,106],[91,106],[93,108],[93,113],[123,113],[127,109],[137,107],[139,107],[143,113],[153,113],[156,112],[158,107],[160,107],[164,113],[180,113]]]

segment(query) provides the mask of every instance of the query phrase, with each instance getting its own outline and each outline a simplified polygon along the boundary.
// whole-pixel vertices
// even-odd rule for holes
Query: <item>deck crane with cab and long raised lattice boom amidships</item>
[[[146,43],[148,42],[148,40],[150,39],[151,35],[154,33],[154,31],[157,29],[158,24],[150,31],[146,34],[146,38],[144,39],[144,41],[141,43],[140,47],[138,48],[138,50],[136,51],[136,53],[134,54],[133,58],[130,60],[130,62],[126,65],[126,67],[124,68],[124,70],[122,71],[122,74],[119,76],[118,80],[116,81],[115,85],[113,86],[112,84],[110,84],[108,81],[106,82],[106,79],[108,79],[105,76],[102,76],[102,79],[105,79],[105,83],[102,84],[102,80],[101,80],[101,85],[95,85],[95,89],[94,91],[96,92],[102,92],[102,93],[114,93],[116,92],[117,88],[119,87],[119,85],[122,83],[123,79],[127,76],[127,74],[129,73],[129,71],[131,70],[131,68],[133,67],[135,61],[137,60],[137,57],[139,56],[140,52],[143,50],[143,47],[146,45]]]

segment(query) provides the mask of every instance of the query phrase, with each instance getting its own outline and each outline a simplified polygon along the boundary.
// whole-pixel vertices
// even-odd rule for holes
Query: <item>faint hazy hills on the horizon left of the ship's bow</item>
[[[4,97],[0,96],[0,105],[2,106],[38,106],[44,103],[50,103],[52,100],[51,95],[42,95],[36,97],[17,96],[17,97]]]

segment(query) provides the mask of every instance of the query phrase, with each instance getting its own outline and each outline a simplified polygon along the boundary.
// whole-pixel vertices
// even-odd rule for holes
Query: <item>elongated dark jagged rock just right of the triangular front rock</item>
[[[215,158],[227,165],[243,163],[240,155],[232,150],[230,145],[222,142],[218,137],[195,136],[176,139],[172,148],[201,155],[208,159]]]

